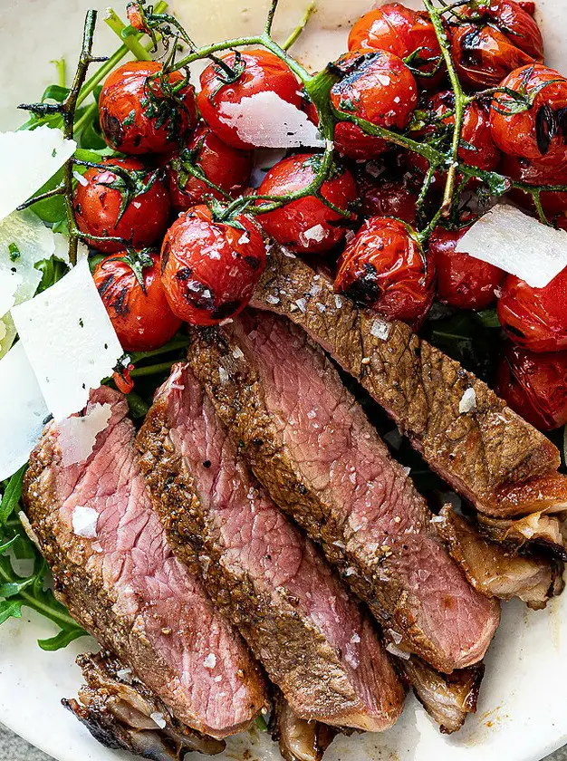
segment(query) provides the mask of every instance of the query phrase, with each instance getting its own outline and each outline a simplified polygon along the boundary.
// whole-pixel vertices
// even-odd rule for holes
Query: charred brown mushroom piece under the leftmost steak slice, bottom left
[[[189,729],[110,653],[80,655],[77,663],[86,684],[79,701],[62,700],[106,747],[129,750],[151,761],[181,761],[190,751],[216,756],[225,749],[215,740]]]

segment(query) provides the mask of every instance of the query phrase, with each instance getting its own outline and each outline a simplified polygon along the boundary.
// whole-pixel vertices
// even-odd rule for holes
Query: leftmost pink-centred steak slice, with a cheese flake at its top
[[[264,681],[200,579],[168,547],[139,470],[126,400],[101,388],[88,409],[97,402],[111,405],[111,419],[91,456],[63,467],[51,423],[25,477],[27,515],[55,593],[178,721],[214,737],[236,733],[264,705]],[[98,514],[95,536],[73,530],[78,507]]]

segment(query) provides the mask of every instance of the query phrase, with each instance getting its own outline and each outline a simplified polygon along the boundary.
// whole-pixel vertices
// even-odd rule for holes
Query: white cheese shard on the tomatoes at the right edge
[[[498,204],[466,232],[456,251],[544,288],[567,267],[567,232]]]

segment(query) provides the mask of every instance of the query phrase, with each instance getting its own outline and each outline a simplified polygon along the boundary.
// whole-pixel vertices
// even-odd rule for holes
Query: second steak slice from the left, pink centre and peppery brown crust
[[[187,364],[159,390],[138,445],[150,494],[178,558],[196,558],[292,711],[379,732],[404,689],[369,617],[317,548],[252,477]]]

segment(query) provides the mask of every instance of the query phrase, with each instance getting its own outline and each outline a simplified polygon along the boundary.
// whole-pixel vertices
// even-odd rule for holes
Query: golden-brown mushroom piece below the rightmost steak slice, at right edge
[[[491,542],[449,506],[435,523],[449,554],[479,592],[499,600],[518,597],[534,610],[561,594],[562,562],[541,554],[518,554],[513,545]]]

